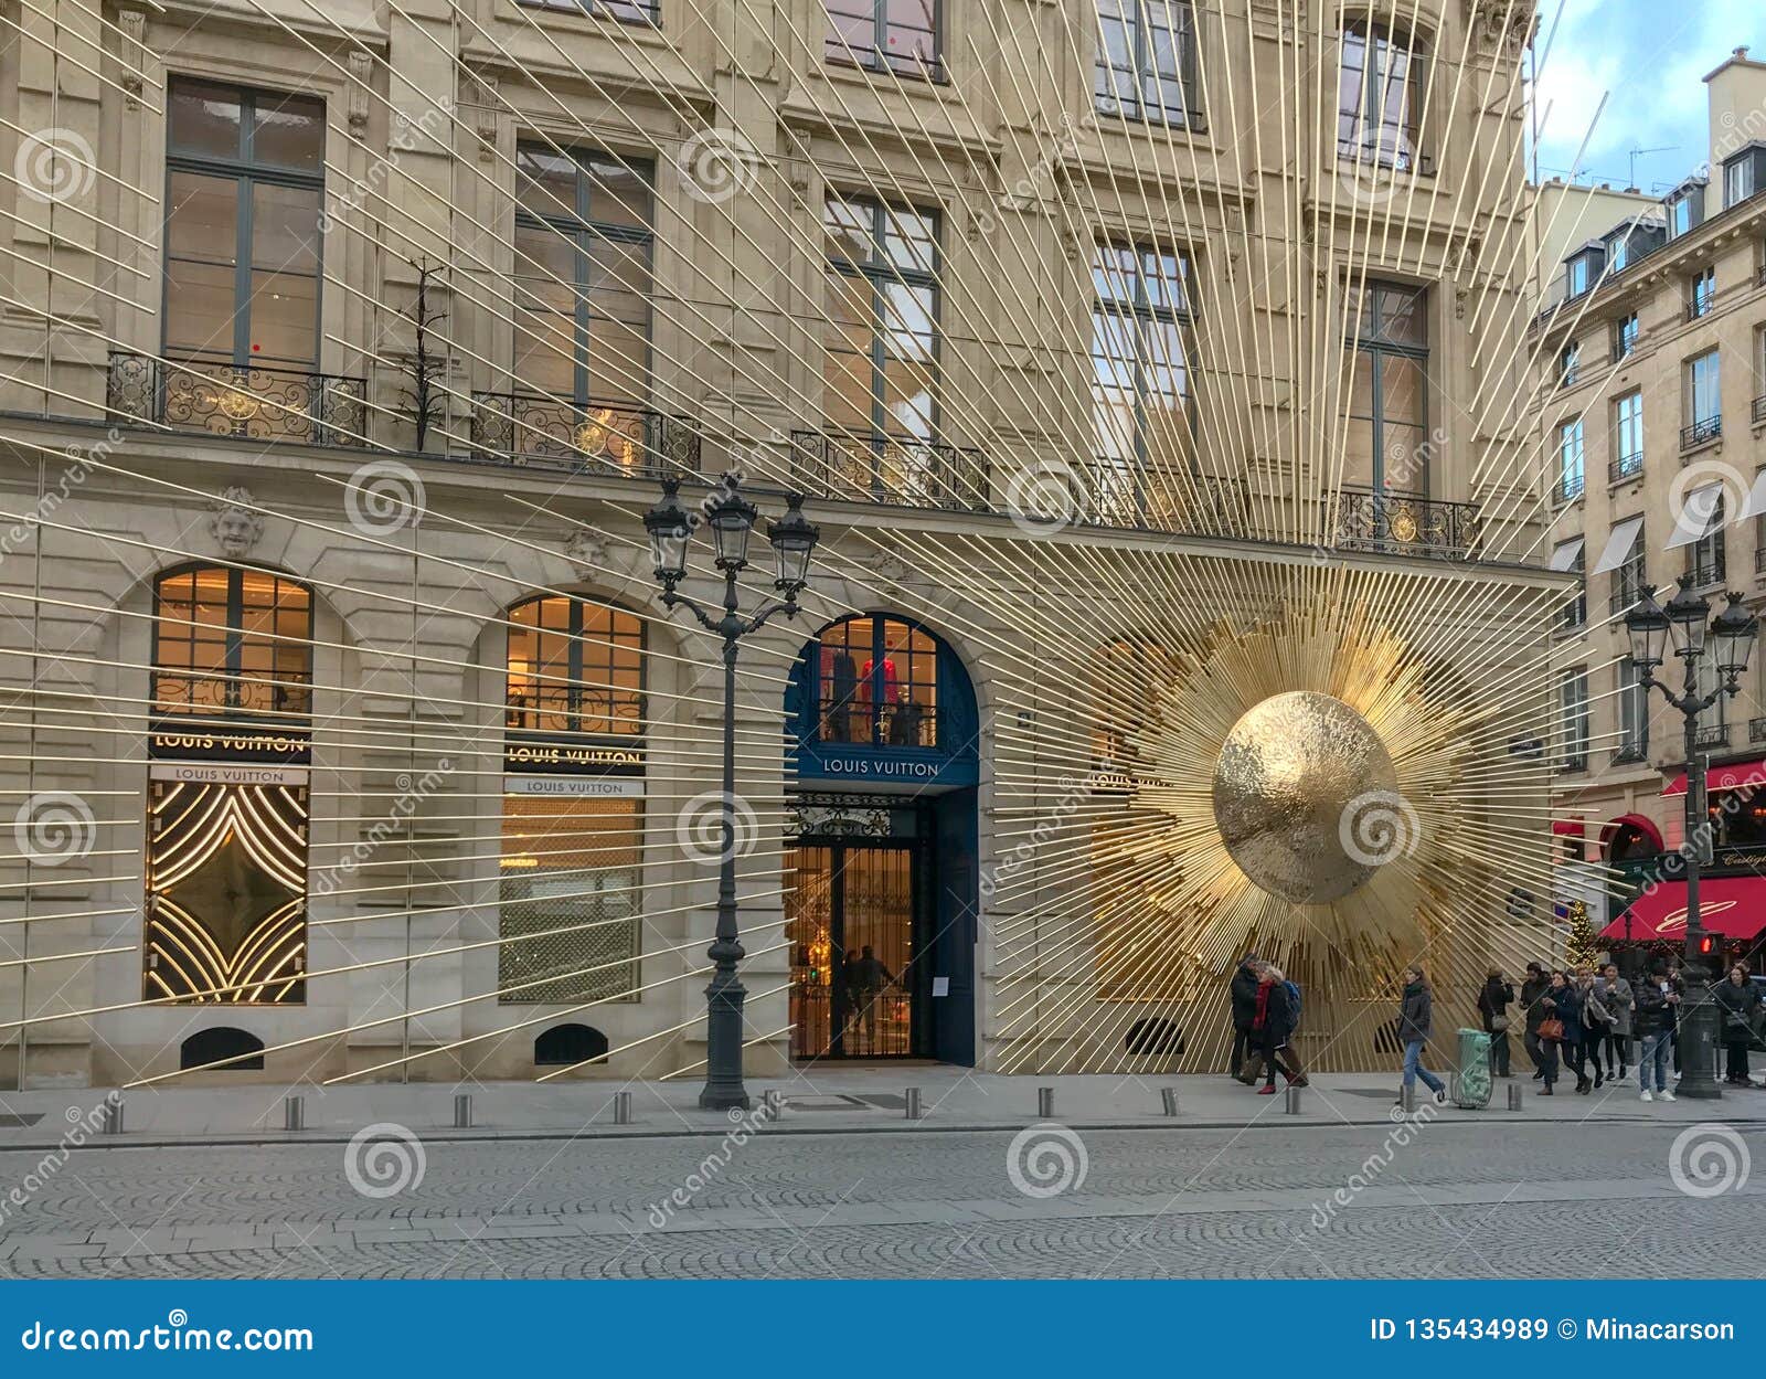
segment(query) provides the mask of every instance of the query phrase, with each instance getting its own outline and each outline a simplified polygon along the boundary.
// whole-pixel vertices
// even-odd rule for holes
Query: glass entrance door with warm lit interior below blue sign
[[[922,862],[913,842],[788,853],[793,1058],[922,1056]]]

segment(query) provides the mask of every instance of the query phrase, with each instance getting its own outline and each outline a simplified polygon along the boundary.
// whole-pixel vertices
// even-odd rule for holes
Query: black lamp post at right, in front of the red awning
[[[1717,1010],[1711,1005],[1709,936],[1699,918],[1699,869],[1709,860],[1711,819],[1706,809],[1704,757],[1699,752],[1699,715],[1725,694],[1741,689],[1741,674],[1759,634],[1759,622],[1741,607],[1741,595],[1731,593],[1729,604],[1711,618],[1711,604],[1704,595],[1692,593],[1685,584],[1674,592],[1667,607],[1644,593],[1625,614],[1625,630],[1632,641],[1632,662],[1648,690],[1651,685],[1679,710],[1687,735],[1687,839],[1681,855],[1687,862],[1687,994],[1679,1022],[1681,1079],[1676,1088],[1681,1096],[1715,1100],[1722,1096],[1717,1086]],[[1685,662],[1681,692],[1655,678],[1672,639],[1674,655]],[[1709,694],[1699,692],[1699,666],[1706,646],[1715,650],[1717,685]]]

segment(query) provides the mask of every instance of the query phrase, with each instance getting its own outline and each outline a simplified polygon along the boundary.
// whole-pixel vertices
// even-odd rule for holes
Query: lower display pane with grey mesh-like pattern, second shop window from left
[[[641,826],[638,800],[503,798],[505,1005],[638,999]]]

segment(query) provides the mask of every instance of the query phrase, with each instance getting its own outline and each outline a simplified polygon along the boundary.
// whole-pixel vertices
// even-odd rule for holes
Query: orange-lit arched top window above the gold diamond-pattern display
[[[313,595],[268,570],[201,565],[154,584],[154,712],[311,712]]]

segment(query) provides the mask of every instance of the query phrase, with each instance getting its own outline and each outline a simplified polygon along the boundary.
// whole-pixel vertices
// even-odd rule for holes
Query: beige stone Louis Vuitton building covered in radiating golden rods
[[[1409,925],[1462,1005],[1540,950],[1531,5],[0,19],[0,1077],[691,1075],[721,667],[639,517],[726,468],[823,530],[754,1066],[1211,1066],[1250,941],[1367,1066]],[[1429,826],[1342,936],[1160,775],[1321,629]]]

